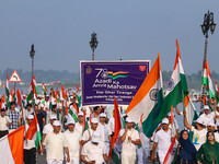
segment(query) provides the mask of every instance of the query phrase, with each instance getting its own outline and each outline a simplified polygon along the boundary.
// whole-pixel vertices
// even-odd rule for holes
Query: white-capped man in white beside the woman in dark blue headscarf
[[[168,150],[171,145],[171,130],[169,129],[169,119],[162,119],[162,129],[155,133],[151,161],[154,161],[155,149],[158,148],[159,162],[163,163]]]

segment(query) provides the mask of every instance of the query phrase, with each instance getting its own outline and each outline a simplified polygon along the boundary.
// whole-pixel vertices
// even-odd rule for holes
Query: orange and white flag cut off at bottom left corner
[[[24,130],[22,126],[0,139],[0,163],[23,164]]]

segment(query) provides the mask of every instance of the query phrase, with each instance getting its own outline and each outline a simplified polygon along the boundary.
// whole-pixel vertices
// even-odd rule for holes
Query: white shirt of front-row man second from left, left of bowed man
[[[74,130],[73,132],[66,130],[64,132],[64,136],[68,141],[70,157],[79,157],[79,149],[80,149],[79,142],[81,140],[81,134],[77,130]]]

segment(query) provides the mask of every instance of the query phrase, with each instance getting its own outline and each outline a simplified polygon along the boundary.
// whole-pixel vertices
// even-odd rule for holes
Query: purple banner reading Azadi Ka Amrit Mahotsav
[[[150,70],[150,60],[80,61],[82,105],[129,105]]]

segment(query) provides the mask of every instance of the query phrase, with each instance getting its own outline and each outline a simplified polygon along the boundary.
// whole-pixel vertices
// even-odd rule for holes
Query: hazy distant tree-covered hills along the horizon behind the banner
[[[10,75],[13,73],[13,69],[7,69],[3,71],[0,71],[0,80],[5,81],[7,79],[7,73]],[[21,77],[22,81],[24,83],[30,83],[31,82],[31,77],[32,73],[31,71],[22,71],[22,70],[16,70],[19,75]],[[172,71],[162,71],[163,75],[163,85],[164,89],[168,86],[168,82],[171,78]],[[36,77],[36,82],[37,83],[48,83],[48,82],[57,82],[60,81],[61,83],[65,84],[76,84],[80,82],[80,72],[69,72],[69,71],[55,71],[55,70],[35,70],[35,77]],[[214,85],[215,85],[215,80],[219,80],[219,73],[216,73],[215,71],[211,72]],[[192,74],[186,74],[187,78],[187,83],[188,83],[188,89],[195,89],[195,90],[200,90],[201,86],[201,71],[198,71],[197,73],[192,73]]]

